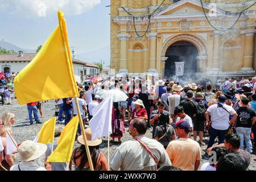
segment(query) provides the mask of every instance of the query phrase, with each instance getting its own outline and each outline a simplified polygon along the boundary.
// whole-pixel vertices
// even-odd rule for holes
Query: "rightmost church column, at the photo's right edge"
[[[255,30],[247,29],[241,31],[241,34],[245,34],[245,48],[243,53],[243,67],[241,71],[244,72],[252,72],[254,73],[253,69],[253,36]]]

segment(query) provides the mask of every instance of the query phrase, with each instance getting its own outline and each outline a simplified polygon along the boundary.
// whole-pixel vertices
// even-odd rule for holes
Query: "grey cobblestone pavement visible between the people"
[[[44,104],[42,105],[42,110],[43,110],[44,118],[41,118],[40,121],[46,122],[48,119],[55,117],[55,102],[54,101],[44,102]],[[11,105],[0,106],[1,116],[6,111],[10,111],[14,113],[16,116],[16,123],[13,126],[13,135],[16,142],[22,142],[24,140],[34,140],[38,131],[42,127],[42,125],[30,125],[30,122],[28,119],[27,106],[26,105],[20,106],[18,105],[18,102],[14,100]],[[152,130],[151,129],[147,130],[146,135],[147,137],[151,138]],[[122,142],[125,142],[130,139],[131,139],[131,136],[129,135],[129,133],[126,132],[125,134],[123,134],[123,137],[121,140]],[[207,143],[206,140],[204,142]],[[74,147],[77,147],[77,146],[79,146],[79,143],[77,143],[76,141]],[[110,142],[110,158],[113,155],[115,148],[117,147],[118,147],[118,143]],[[206,147],[207,146],[201,147],[201,154],[202,154],[201,164],[208,162],[208,160],[205,160],[203,156],[205,154]],[[100,149],[102,152],[104,152],[106,157],[108,157],[108,138],[107,137],[102,139],[102,144],[100,146]],[[16,154],[15,158],[16,158],[15,163],[18,163],[20,161],[19,155]],[[38,159],[38,163],[43,165],[42,158]],[[249,166],[249,170],[254,171],[255,169],[256,169],[256,155],[254,153],[253,159]]]

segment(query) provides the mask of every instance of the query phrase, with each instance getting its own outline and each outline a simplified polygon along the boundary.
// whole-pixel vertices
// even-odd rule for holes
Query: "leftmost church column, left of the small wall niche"
[[[120,40],[120,69],[119,73],[128,73],[127,70],[127,40],[130,38],[129,34],[118,34]]]

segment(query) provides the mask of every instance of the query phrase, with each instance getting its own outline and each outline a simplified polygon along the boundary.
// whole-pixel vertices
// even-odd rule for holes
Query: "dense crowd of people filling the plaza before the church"
[[[248,82],[249,81],[249,82]],[[106,90],[118,89],[127,95],[127,100],[114,102],[112,109],[112,138],[118,147],[110,159],[109,169],[116,170],[185,170],[185,171],[222,171],[246,170],[251,154],[256,150],[256,77],[250,80],[225,78],[217,89],[211,85],[203,86],[191,83],[179,85],[174,81],[151,81],[145,78],[110,78],[88,85],[77,84],[79,88],[80,113],[76,109],[74,98],[55,100],[59,107],[57,122],[67,125],[72,117],[80,114],[84,126],[93,118],[96,108]],[[249,92],[250,91],[250,92]],[[28,104],[30,123],[32,112],[36,123],[41,123],[36,113],[36,103]],[[11,133],[15,116],[2,117],[0,134],[5,147],[6,130]],[[65,120],[64,120],[65,119]],[[132,139],[122,142],[127,132]],[[146,137],[150,129],[152,138]],[[94,169],[108,170],[108,163],[100,151],[102,139],[92,141],[92,131],[85,130]],[[61,128],[56,127],[55,144]],[[198,136],[198,137],[197,137]],[[115,138],[118,140],[115,141]],[[53,170],[72,169],[89,170],[85,142],[81,136],[81,126],[77,130],[77,140],[81,144],[75,148],[68,163],[52,163]],[[218,145],[214,145],[214,143]],[[206,144],[207,143],[207,144]],[[0,161],[6,161],[11,170],[26,170],[36,166],[34,160],[43,154],[49,156],[49,146],[35,146],[29,141],[20,144],[19,152],[22,163],[13,166],[11,155],[0,152]],[[26,151],[26,147],[40,148],[39,152]],[[200,167],[201,147],[206,147],[205,159],[208,163]],[[42,152],[43,151],[43,152]],[[34,156],[28,158],[26,155]],[[42,154],[41,154],[42,153]],[[24,156],[22,156],[24,155]],[[212,161],[212,156],[215,160]],[[30,160],[31,159],[31,160]],[[47,169],[43,168],[44,170]]]

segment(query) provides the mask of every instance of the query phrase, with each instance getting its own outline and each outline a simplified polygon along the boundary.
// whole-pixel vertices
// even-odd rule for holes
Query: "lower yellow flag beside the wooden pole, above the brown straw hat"
[[[70,161],[78,124],[79,118],[76,116],[71,121],[69,121],[67,126],[64,127],[64,130],[58,140],[58,145],[53,153],[49,156],[47,163]]]

